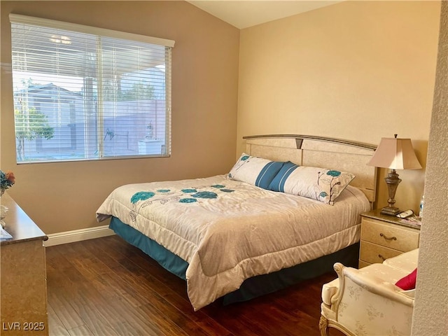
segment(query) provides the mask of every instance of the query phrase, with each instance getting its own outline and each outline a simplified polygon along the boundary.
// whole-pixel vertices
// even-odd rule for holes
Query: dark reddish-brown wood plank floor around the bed
[[[320,335],[325,274],[193,311],[186,283],[116,236],[46,248],[50,335]],[[331,335],[340,335],[331,330]]]

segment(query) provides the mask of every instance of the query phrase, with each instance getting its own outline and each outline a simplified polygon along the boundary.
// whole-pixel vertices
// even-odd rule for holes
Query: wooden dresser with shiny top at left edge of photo
[[[45,247],[48,237],[18,204],[4,194],[8,207],[0,242],[0,335],[48,335]]]

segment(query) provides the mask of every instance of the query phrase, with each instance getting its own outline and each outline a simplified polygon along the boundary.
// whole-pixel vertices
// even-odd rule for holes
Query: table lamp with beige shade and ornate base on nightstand
[[[411,139],[381,138],[379,146],[372,159],[367,163],[369,166],[392,169],[384,180],[388,188],[388,206],[381,209],[381,214],[395,216],[400,209],[395,207],[395,191],[401,182],[395,169],[421,169],[412,148]]]

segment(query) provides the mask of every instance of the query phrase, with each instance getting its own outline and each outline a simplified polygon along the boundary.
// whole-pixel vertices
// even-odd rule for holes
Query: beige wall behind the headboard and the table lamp
[[[245,135],[379,144],[396,133],[425,167],[439,15],[440,1],[346,1],[242,29],[237,155]],[[396,205],[418,211],[425,169],[398,174]]]

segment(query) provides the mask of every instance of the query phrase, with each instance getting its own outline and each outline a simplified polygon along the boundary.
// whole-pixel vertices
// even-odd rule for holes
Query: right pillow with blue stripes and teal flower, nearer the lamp
[[[286,162],[268,188],[333,205],[354,178],[353,174],[339,170],[297,166],[293,162]]]

